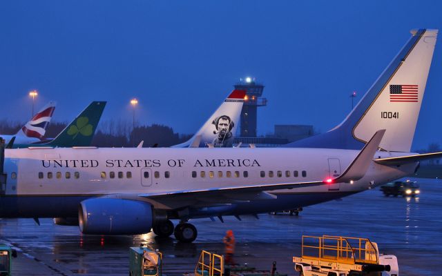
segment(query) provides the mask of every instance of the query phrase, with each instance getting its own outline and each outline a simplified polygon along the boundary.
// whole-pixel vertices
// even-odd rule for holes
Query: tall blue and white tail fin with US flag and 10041
[[[356,150],[376,130],[385,129],[381,149],[410,152],[437,32],[412,30],[412,37],[340,125],[286,146]]]

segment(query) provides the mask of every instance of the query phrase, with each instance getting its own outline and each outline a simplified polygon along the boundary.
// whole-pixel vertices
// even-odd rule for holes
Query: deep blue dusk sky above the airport
[[[410,38],[442,28],[442,1],[2,1],[0,119],[28,121],[57,101],[70,121],[90,101],[103,120],[193,133],[241,77],[265,85],[258,134],[274,124],[325,132]],[[442,145],[442,43],[436,43],[413,149]]]

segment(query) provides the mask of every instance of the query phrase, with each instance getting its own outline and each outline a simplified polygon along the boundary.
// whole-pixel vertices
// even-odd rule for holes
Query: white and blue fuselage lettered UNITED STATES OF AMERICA
[[[343,172],[358,152],[315,148],[6,150],[8,179],[0,198],[0,217],[76,217],[79,202],[102,195],[321,181]],[[400,155],[376,152],[375,157]],[[409,175],[416,166],[372,162],[365,176],[353,184],[271,190],[276,199],[195,209],[191,216],[256,214],[316,204]]]

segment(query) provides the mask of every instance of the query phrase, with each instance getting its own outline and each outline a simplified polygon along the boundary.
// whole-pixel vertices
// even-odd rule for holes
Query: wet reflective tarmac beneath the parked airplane
[[[419,197],[384,197],[376,188],[341,201],[309,206],[299,215],[260,215],[260,219],[225,217],[191,221],[198,229],[193,244],[173,238],[84,236],[75,226],[57,226],[52,219],[1,219],[0,239],[19,253],[12,275],[128,275],[128,248],[147,242],[164,254],[164,274],[192,272],[202,249],[223,253],[227,229],[236,235],[236,262],[298,275],[292,256],[300,255],[302,235],[367,237],[381,253],[398,257],[401,275],[440,275],[442,257],[442,181],[419,179]],[[176,221],[174,221],[176,222]]]

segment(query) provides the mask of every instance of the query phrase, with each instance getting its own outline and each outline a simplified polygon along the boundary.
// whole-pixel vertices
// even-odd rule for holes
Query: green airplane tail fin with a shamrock
[[[63,131],[45,146],[90,146],[106,101],[93,101]]]

